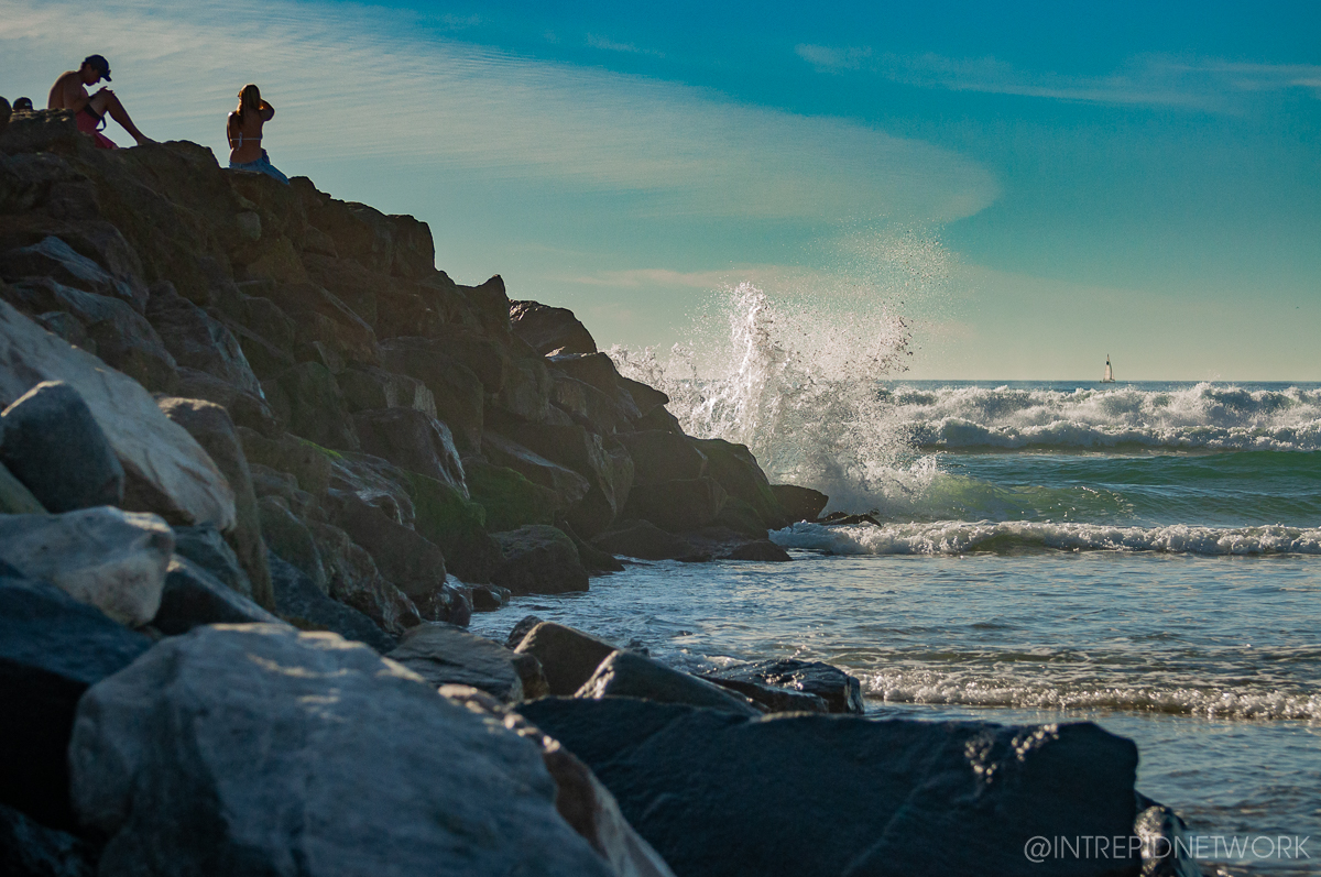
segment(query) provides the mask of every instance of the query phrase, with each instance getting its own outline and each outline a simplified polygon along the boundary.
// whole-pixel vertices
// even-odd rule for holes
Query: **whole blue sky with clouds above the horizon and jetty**
[[[99,52],[227,161],[256,82],[276,166],[602,349],[719,343],[752,283],[810,350],[902,320],[906,378],[1321,380],[1318,37],[1301,1],[0,0],[0,94]]]

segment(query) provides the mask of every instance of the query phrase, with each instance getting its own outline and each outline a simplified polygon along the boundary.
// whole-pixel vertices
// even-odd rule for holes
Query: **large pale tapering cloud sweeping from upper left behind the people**
[[[378,8],[0,0],[0,21],[7,88],[45,94],[67,65],[100,52],[144,131],[217,153],[235,92],[256,82],[279,107],[277,164],[353,157],[371,173],[384,164],[631,193],[667,215],[939,222],[997,197],[983,166],[919,140],[531,61]]]

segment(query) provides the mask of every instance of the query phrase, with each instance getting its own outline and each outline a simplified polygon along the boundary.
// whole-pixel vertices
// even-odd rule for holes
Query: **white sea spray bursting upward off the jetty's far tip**
[[[609,353],[621,372],[659,387],[690,435],[748,445],[773,482],[815,487],[832,509],[911,505],[937,473],[913,450],[878,380],[906,368],[909,322],[882,301],[844,313],[777,302],[750,283],[721,296],[719,342]],[[701,330],[699,338],[715,333]]]

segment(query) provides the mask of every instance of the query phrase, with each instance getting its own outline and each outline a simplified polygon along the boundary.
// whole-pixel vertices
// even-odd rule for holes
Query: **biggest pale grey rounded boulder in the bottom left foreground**
[[[610,874],[539,748],[326,634],[199,627],[79,704],[81,819],[120,874]]]

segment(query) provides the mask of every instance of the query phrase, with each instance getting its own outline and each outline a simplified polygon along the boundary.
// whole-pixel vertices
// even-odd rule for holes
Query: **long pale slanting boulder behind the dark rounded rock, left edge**
[[[125,507],[170,523],[234,526],[234,493],[225,475],[141,384],[0,302],[0,404],[42,380],[63,380],[87,403],[124,468]]]

